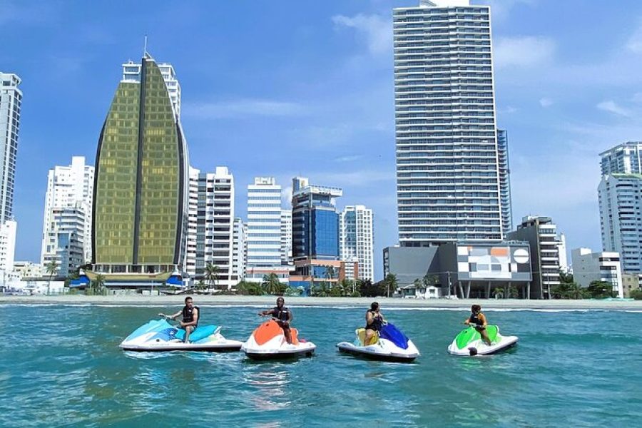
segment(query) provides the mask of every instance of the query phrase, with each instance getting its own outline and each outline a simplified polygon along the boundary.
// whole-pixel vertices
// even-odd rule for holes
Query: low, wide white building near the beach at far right
[[[618,253],[593,253],[590,248],[576,248],[571,252],[573,278],[581,287],[588,287],[592,281],[610,282],[613,292],[624,297],[622,267]]]

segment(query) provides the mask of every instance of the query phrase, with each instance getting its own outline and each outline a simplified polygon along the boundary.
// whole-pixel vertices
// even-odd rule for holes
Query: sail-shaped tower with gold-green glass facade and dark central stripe
[[[182,269],[187,148],[168,89],[146,55],[140,81],[121,81],[101,131],[93,195],[97,272]]]

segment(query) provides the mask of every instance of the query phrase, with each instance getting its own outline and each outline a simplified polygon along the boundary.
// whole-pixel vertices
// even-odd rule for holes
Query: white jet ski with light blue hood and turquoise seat
[[[178,329],[166,320],[152,320],[134,330],[121,342],[127,351],[208,351],[226,352],[240,350],[243,342],[228,340],[220,334],[221,327],[199,325],[190,334],[190,341],[183,342],[185,330]]]

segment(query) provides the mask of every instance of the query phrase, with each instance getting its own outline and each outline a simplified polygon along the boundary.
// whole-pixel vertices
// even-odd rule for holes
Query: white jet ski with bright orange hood
[[[293,357],[312,357],[317,345],[299,338],[297,329],[290,328],[292,343],[285,340],[283,330],[272,319],[263,322],[252,332],[241,350],[253,360],[277,360]]]

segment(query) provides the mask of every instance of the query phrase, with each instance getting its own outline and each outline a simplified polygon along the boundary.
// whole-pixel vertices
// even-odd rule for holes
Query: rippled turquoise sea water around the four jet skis
[[[245,340],[255,307],[202,307]],[[465,310],[386,310],[422,356],[411,365],[340,355],[365,309],[292,307],[317,345],[296,362],[243,353],[136,354],[118,343],[175,307],[0,307],[0,426],[611,427],[642,414],[642,313],[485,311],[519,346],[489,357],[446,348]]]

